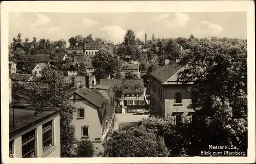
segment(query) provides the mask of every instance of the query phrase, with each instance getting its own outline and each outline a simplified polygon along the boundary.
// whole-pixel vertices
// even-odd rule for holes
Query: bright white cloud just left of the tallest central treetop
[[[103,28],[99,27],[98,29],[100,31],[106,31],[111,37],[111,40],[115,43],[123,41],[123,37],[126,33],[126,31],[120,28],[118,25],[105,25]]]

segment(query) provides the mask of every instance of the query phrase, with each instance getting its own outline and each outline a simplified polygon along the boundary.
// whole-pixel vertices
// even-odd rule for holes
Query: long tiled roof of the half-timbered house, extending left
[[[144,83],[143,78],[141,79],[100,79],[100,85],[106,86],[117,86],[117,87],[127,87],[124,89],[123,93],[143,93]],[[136,86],[138,89],[136,89]]]

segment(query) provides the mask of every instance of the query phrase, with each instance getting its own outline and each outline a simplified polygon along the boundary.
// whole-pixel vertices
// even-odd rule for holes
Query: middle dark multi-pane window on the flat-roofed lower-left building
[[[35,157],[35,130],[22,135],[22,157]]]

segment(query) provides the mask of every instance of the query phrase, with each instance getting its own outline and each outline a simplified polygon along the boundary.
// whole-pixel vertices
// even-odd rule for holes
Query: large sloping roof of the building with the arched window
[[[155,77],[161,83],[164,83],[170,77],[172,77],[176,72],[178,72],[183,66],[178,63],[169,63],[161,68],[150,73],[151,76]]]

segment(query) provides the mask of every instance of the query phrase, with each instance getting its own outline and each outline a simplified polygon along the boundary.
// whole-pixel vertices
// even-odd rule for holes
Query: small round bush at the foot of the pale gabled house
[[[75,148],[77,157],[93,157],[95,153],[95,146],[89,140],[82,140],[78,142],[77,147]]]

